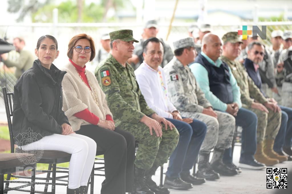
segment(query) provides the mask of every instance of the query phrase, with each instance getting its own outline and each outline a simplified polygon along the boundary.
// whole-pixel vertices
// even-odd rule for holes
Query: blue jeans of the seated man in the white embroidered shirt
[[[183,117],[185,118],[185,117]],[[178,145],[169,158],[166,176],[180,177],[180,172],[190,172],[205,138],[207,126],[199,120],[187,124],[184,121],[168,119],[180,134]]]

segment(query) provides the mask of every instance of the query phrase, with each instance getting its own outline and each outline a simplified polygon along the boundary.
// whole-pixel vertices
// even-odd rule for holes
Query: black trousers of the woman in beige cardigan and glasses
[[[105,180],[101,194],[133,192],[135,138],[124,130],[114,131],[95,125],[83,125],[78,134],[90,137],[104,150]]]

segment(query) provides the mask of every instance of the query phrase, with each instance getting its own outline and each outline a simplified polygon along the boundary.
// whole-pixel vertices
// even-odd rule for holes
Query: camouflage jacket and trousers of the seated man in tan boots
[[[281,112],[266,112],[251,108],[254,100],[259,103],[267,102],[267,99],[260,92],[253,80],[248,76],[245,67],[239,61],[231,61],[222,56],[221,59],[227,63],[240,87],[242,107],[256,113],[258,116],[257,143],[264,139],[275,139],[278,134],[281,122]]]

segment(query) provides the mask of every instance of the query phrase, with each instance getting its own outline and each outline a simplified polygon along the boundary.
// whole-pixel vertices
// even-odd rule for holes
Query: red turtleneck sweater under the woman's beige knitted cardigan
[[[69,61],[77,69],[77,71],[78,71],[79,75],[81,76],[82,80],[90,88],[90,86],[88,84],[88,81],[87,81],[87,78],[86,78],[86,75],[85,75],[86,66],[80,67],[79,65],[75,64],[71,59],[69,59]],[[91,123],[93,125],[97,125],[98,121],[99,121],[99,117],[96,116],[95,114],[93,114],[92,112],[90,112],[87,108],[82,110],[82,111],[80,111],[80,112],[75,113],[74,116],[79,118],[79,119],[83,119],[84,121],[87,121],[88,123]],[[114,120],[112,119],[112,117],[109,114],[107,114],[105,116],[105,120],[114,122]]]

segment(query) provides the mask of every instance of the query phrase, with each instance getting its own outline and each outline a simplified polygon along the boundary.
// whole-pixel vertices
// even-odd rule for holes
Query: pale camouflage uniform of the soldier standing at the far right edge
[[[288,52],[292,52],[292,46],[288,49],[285,49],[281,52],[278,64],[284,64],[284,61],[288,59]],[[292,56],[290,56],[290,59],[292,59]],[[292,66],[292,64],[291,64]],[[284,79],[284,83],[282,84],[282,103],[281,105],[291,107],[292,108],[292,73],[287,73],[286,68],[284,67],[284,70],[279,73],[277,76],[282,76]]]

